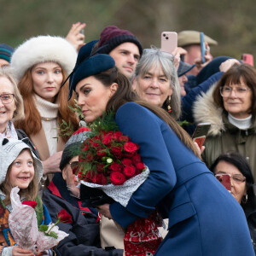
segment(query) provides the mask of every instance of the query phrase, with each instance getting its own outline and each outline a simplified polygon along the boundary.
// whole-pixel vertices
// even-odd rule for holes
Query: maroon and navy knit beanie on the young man
[[[133,33],[125,29],[119,29],[117,26],[106,26],[101,33],[98,43],[98,48],[104,46],[99,50],[99,53],[109,54],[111,50],[119,46],[119,44],[126,42],[136,44],[140,55],[143,54],[143,46]]]

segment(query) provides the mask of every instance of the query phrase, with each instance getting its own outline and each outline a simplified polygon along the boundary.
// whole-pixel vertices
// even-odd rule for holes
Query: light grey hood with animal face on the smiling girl
[[[24,148],[32,149],[26,143],[21,140],[0,138],[0,184],[4,182],[7,170],[13,161],[18,157],[21,150]],[[43,164],[38,158],[32,153],[33,160],[36,164],[36,169],[38,172],[38,182],[43,176]]]

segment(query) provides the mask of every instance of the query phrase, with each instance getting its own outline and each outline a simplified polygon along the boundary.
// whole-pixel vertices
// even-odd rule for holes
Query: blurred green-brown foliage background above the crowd
[[[86,42],[105,26],[133,32],[144,48],[160,47],[162,31],[197,30],[218,41],[212,55],[256,56],[256,3],[253,0],[0,0],[0,43],[13,47],[26,38],[65,37],[85,22]]]

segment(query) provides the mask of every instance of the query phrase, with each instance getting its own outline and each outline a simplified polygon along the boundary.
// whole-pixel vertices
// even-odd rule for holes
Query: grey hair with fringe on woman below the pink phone
[[[178,119],[181,114],[181,96],[177,71],[173,64],[173,55],[156,48],[144,49],[143,55],[137,64],[134,79],[144,76],[152,67],[155,69],[160,69],[161,67],[166,78],[170,80],[170,86],[172,87],[172,117]],[[166,106],[166,101],[163,106]]]

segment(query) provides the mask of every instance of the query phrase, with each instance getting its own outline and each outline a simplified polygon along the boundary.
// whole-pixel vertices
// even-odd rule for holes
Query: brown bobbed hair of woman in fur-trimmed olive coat
[[[252,90],[252,106],[250,113],[253,116],[256,115],[256,70],[251,65],[247,63],[235,64],[230,69],[224,73],[222,78],[218,81],[218,84],[213,91],[213,101],[218,107],[224,109],[223,97],[220,95],[220,89],[224,85],[230,84],[241,84],[244,82]],[[225,109],[224,109],[225,111]]]

